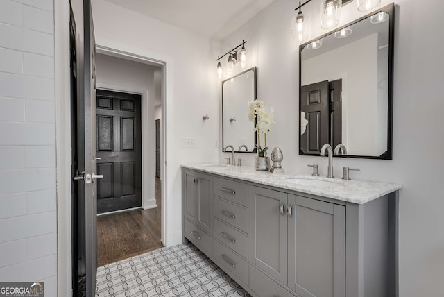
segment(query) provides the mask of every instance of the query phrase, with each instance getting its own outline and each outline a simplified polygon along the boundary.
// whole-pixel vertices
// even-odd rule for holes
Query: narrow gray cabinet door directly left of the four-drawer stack
[[[213,234],[212,176],[197,175],[197,221],[200,228]]]

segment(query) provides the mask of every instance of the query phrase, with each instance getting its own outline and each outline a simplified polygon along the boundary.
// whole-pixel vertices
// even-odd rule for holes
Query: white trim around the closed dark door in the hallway
[[[149,158],[150,154],[154,154],[153,147],[150,146],[149,137],[149,121],[151,117],[154,117],[154,103],[153,107],[150,108],[148,103],[148,90],[147,89],[136,89],[132,87],[123,87],[121,85],[108,85],[106,83],[96,83],[96,88],[107,91],[122,92],[128,94],[136,94],[141,96],[140,109],[141,109],[141,128],[142,128],[142,208],[148,210],[151,208],[156,208],[155,196],[154,196],[154,179],[150,180],[151,176],[155,175],[153,169],[151,169],[154,164],[152,164],[152,158]],[[150,117],[151,116],[151,117]],[[154,130],[154,128],[152,129]],[[153,174],[151,174],[153,173]],[[162,222],[163,223],[163,222]]]

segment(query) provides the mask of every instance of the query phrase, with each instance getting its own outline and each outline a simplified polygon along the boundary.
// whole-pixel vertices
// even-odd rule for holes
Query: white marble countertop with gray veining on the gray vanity
[[[402,185],[373,182],[368,180],[343,180],[341,178],[325,178],[322,176],[256,171],[253,167],[246,166],[238,167],[222,164],[184,164],[182,167],[357,204],[367,203],[368,201],[372,201],[402,188]],[[295,183],[295,180],[291,181],[291,178],[302,179],[302,182],[305,183],[310,183],[311,180],[323,180],[329,183],[325,183],[325,185],[321,186],[300,185],[297,183],[297,181]]]

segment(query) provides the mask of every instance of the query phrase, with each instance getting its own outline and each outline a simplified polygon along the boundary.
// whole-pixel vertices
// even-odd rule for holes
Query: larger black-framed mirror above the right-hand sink
[[[299,155],[391,160],[393,24],[392,3],[300,46]]]

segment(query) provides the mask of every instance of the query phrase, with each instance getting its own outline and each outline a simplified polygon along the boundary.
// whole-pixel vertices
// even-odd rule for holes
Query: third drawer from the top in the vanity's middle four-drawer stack
[[[250,239],[247,235],[215,219],[214,237],[248,260]]]

